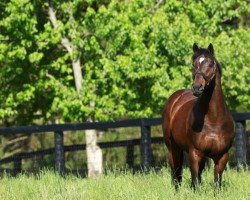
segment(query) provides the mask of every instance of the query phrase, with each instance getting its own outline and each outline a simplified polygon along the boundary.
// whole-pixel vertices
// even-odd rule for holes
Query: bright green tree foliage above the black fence
[[[230,109],[250,108],[249,3],[230,1],[55,0],[1,3],[0,119],[28,124],[160,115],[191,87],[192,44],[215,46]],[[73,56],[61,44],[68,38]],[[82,90],[74,86],[79,58]],[[90,106],[94,103],[94,106]]]

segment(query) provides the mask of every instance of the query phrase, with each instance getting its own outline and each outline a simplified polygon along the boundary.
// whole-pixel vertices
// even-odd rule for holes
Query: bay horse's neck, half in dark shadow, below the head
[[[211,83],[207,91],[199,99],[199,104],[202,111],[205,112],[205,117],[211,123],[216,123],[224,118],[226,106],[219,72],[217,72],[215,80]]]

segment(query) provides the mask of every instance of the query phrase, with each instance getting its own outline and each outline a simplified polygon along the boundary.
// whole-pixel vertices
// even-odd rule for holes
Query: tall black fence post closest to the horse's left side
[[[151,167],[151,130],[150,126],[144,125],[141,121],[141,166],[146,174],[149,173]]]

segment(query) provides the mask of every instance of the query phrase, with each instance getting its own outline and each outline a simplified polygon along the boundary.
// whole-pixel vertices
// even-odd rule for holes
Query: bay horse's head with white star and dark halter
[[[214,48],[210,43],[207,49],[193,45],[193,94],[199,97],[214,79],[217,62],[214,57]]]

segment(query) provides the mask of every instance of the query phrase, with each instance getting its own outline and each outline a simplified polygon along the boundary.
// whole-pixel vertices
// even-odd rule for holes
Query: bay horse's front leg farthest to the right
[[[226,167],[229,154],[228,152],[221,157],[214,159],[214,186],[221,188],[222,173]]]

